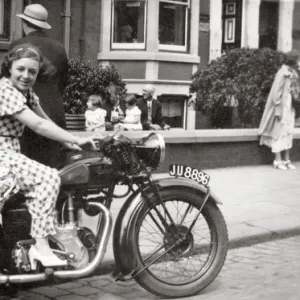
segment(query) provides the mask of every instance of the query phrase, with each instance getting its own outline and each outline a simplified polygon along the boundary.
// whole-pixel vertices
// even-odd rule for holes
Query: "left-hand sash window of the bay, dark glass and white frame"
[[[145,1],[115,0],[113,6],[112,48],[145,49]]]

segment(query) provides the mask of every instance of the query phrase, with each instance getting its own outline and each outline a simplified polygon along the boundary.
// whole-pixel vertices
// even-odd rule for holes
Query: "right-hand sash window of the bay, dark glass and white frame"
[[[189,5],[190,0],[159,1],[159,49],[187,51]]]

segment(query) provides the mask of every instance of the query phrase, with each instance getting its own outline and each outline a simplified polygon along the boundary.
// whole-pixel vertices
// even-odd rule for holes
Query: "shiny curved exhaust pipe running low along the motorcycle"
[[[54,271],[51,272],[52,269],[48,269],[45,273],[39,274],[19,274],[19,275],[0,275],[0,284],[21,284],[21,283],[28,283],[28,282],[37,282],[37,281],[44,281],[49,278],[49,276],[54,276],[56,278],[61,279],[74,279],[74,278],[81,278],[87,275],[90,275],[102,262],[105,249],[107,247],[107,243],[109,240],[109,235],[112,228],[112,216],[110,211],[106,208],[105,205],[102,203],[97,202],[89,202],[88,205],[97,207],[101,210],[104,217],[104,228],[103,232],[98,232],[98,235],[101,234],[101,237],[97,236],[97,240],[100,238],[100,243],[98,246],[98,251],[94,259],[83,269],[79,270],[66,270],[66,271]]]

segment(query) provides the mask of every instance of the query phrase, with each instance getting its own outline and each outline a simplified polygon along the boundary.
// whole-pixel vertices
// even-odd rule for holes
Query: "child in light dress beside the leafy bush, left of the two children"
[[[101,96],[89,96],[85,112],[86,131],[105,131],[106,110],[102,106],[103,100]]]

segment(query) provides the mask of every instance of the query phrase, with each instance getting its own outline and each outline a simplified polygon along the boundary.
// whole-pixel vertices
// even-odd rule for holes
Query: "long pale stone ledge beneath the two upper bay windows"
[[[145,60],[145,61],[169,61],[183,62],[190,64],[200,63],[200,57],[185,53],[168,53],[168,52],[147,52],[147,51],[108,51],[100,52],[97,56],[98,60]]]

